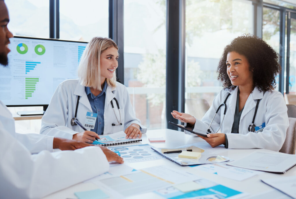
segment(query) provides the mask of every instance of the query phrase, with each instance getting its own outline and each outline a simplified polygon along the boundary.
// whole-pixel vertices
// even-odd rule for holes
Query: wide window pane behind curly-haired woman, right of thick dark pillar
[[[185,112],[201,119],[222,89],[217,66],[224,47],[253,34],[252,1],[186,1]]]

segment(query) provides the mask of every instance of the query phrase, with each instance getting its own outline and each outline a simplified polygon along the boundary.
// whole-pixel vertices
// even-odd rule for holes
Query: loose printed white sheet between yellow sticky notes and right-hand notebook
[[[238,181],[245,180],[261,173],[260,171],[228,166],[226,163],[228,162],[197,165],[193,168]]]

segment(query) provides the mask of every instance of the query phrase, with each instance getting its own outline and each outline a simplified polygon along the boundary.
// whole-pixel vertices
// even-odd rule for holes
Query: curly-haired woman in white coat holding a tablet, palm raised
[[[280,69],[278,53],[265,41],[251,35],[237,37],[224,48],[218,64],[224,88],[202,120],[178,111],[171,114],[193,131],[210,132],[200,137],[212,147],[279,151],[289,126],[284,97],[274,91]],[[226,106],[218,110],[223,103]]]

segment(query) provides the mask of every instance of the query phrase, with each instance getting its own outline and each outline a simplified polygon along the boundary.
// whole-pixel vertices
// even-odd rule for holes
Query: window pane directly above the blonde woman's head
[[[108,37],[108,6],[106,0],[59,1],[60,39],[88,42],[92,37]]]

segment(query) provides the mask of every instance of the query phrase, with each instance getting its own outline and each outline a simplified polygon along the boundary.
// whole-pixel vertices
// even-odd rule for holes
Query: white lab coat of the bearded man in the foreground
[[[52,142],[51,136],[15,133],[14,119],[0,101],[0,198],[41,198],[109,169],[99,147],[43,150],[52,151]]]

